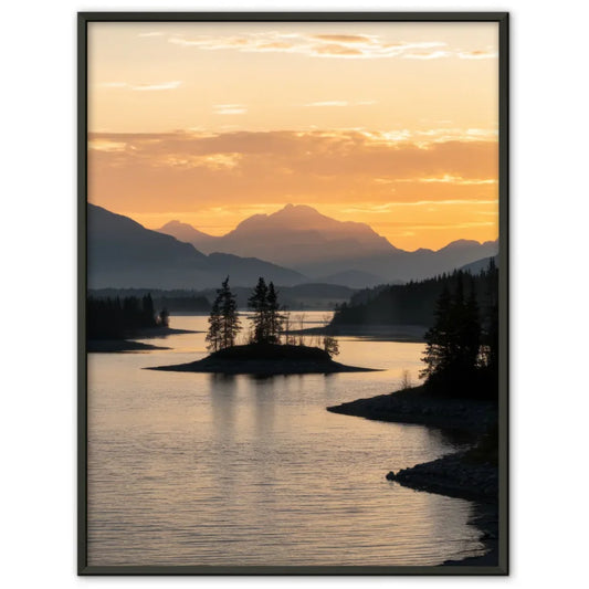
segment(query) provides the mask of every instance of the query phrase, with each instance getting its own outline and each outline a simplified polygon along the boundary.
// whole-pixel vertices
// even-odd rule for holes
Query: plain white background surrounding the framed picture
[[[4,587],[579,587],[587,559],[587,31],[582,0],[80,3],[2,9],[0,561]],[[75,576],[75,12],[509,10],[512,576]],[[34,320],[34,323],[33,323]],[[585,501],[583,501],[585,499]]]

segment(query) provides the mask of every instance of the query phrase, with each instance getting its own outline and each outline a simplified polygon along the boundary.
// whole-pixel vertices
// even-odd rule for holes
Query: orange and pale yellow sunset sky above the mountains
[[[498,233],[497,23],[90,23],[88,200],[220,235],[311,204],[407,250]]]

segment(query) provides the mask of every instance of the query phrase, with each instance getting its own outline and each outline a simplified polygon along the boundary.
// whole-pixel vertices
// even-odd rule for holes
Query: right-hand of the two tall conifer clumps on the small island
[[[253,311],[250,320],[253,325],[254,344],[280,344],[284,330],[284,315],[278,304],[278,293],[271,282],[267,286],[262,276],[257,280],[254,292],[248,298],[248,306]]]

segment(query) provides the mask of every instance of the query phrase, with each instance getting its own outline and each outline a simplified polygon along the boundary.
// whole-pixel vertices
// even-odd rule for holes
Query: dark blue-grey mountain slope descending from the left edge
[[[102,207],[88,204],[87,213],[90,288],[207,288],[219,286],[228,274],[234,286],[252,286],[259,276],[280,285],[306,280],[255,257],[204,255],[189,243]]]

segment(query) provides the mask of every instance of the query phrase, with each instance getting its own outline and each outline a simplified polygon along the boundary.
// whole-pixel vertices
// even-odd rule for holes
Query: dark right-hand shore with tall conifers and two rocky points
[[[433,323],[425,334],[423,386],[358,399],[327,410],[469,433],[475,442],[469,451],[397,473],[391,471],[387,478],[419,491],[475,501],[474,523],[484,533],[488,553],[463,564],[497,565],[498,271],[494,260],[478,278],[477,284],[470,274],[455,272],[425,285],[428,288],[441,285],[442,292],[435,301]],[[380,295],[391,297],[391,291],[382,291]]]

